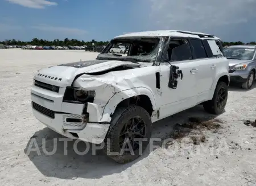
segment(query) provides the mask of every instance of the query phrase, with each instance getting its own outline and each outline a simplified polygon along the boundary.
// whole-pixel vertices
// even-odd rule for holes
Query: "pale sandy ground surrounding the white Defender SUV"
[[[141,158],[125,165],[101,152],[77,155],[73,142],[68,143],[68,155],[59,141],[54,155],[44,154],[42,139],[51,151],[53,138],[61,136],[31,113],[34,74],[44,67],[96,56],[84,51],[0,50],[0,185],[256,185],[256,127],[243,123],[256,119],[255,86],[249,91],[229,88],[225,113],[214,120],[221,121],[220,128],[201,129],[206,140],[200,145],[189,143],[187,137],[166,148],[156,143],[154,150],[148,148]],[[152,138],[170,138],[174,125],[189,117],[212,116],[196,106],[155,123]],[[26,155],[31,139],[38,142],[40,155]]]

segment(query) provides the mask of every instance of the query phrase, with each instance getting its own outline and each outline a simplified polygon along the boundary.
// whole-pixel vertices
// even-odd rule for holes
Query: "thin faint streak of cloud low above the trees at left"
[[[86,34],[85,30],[81,30],[79,28],[68,28],[68,27],[56,27],[49,26],[47,24],[39,24],[38,26],[31,26],[36,30],[46,31],[46,32],[57,32],[59,34],[73,34],[73,35],[84,35]]]

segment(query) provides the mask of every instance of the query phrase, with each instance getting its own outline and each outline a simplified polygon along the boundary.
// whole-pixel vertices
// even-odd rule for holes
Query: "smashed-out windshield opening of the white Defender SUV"
[[[98,55],[97,59],[123,60],[131,62],[154,62],[160,38],[122,38],[112,40]]]

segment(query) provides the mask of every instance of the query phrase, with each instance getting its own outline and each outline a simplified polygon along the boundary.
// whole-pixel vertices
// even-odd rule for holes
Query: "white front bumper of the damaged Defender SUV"
[[[82,114],[84,105],[63,102],[64,92],[65,88],[60,88],[59,93],[56,93],[32,86],[31,106],[36,119],[65,137],[102,143],[108,133],[109,122],[101,121],[97,105],[88,103],[86,111],[89,118],[85,120],[85,115]]]

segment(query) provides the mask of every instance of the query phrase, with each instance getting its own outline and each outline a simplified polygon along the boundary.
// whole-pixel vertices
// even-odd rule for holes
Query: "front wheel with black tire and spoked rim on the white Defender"
[[[130,130],[129,128],[131,128],[132,120],[134,121],[133,126],[135,127]],[[104,152],[109,158],[117,163],[123,164],[132,162],[143,154],[150,141],[151,133],[152,122],[150,115],[145,109],[135,105],[131,105],[128,108],[117,108],[113,114],[108,135],[104,141]],[[142,146],[139,146],[138,140],[134,140],[134,138],[144,138],[146,141],[142,141]],[[125,139],[129,139],[126,144],[123,143]],[[136,141],[137,143],[135,143]],[[123,146],[120,143],[123,143]],[[133,151],[123,151],[123,154],[120,154],[122,148],[123,150],[129,148],[129,146],[126,146],[127,144],[134,144],[137,148],[134,148]],[[142,150],[141,153],[139,153],[139,150]],[[113,155],[114,152],[118,152],[118,155]],[[134,154],[132,154],[132,152],[134,152]]]

